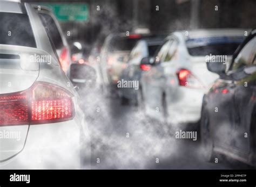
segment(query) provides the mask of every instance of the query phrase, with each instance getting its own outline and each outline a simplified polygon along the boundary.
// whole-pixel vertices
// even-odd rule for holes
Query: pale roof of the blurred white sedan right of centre
[[[250,33],[251,29],[241,28],[218,28],[218,29],[198,29],[188,31],[173,32],[174,35],[179,35],[185,39],[207,38],[207,37],[232,37],[232,36],[245,36],[245,31]],[[169,35],[170,37],[170,35]]]

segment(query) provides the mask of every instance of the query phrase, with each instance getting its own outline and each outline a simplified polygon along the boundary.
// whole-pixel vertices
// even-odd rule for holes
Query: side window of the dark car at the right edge
[[[256,37],[252,38],[245,46],[242,48],[241,52],[234,59],[232,70],[240,69],[244,66],[250,66],[251,64],[256,64]]]

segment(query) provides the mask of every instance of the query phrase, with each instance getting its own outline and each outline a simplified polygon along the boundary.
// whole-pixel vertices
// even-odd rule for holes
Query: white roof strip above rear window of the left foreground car
[[[0,12],[26,13],[24,4],[11,1],[0,1]]]

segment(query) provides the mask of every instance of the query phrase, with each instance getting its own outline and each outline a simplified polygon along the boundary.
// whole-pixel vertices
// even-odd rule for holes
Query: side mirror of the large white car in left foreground
[[[96,70],[87,64],[72,63],[69,77],[71,82],[80,88],[87,84],[95,84],[97,75]]]

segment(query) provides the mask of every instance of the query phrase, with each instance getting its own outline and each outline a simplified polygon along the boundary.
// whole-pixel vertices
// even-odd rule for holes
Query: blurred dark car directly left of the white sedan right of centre
[[[146,71],[148,68],[147,66],[141,66],[140,62],[145,57],[153,56],[163,41],[164,37],[161,36],[139,40],[131,50],[129,60],[127,62],[127,68],[120,76],[120,83],[124,81],[139,83],[142,71]],[[135,88],[135,86],[137,88]],[[133,87],[127,86],[126,88],[118,88],[121,104],[127,104],[129,101],[132,101],[137,105],[139,100],[138,97],[140,96],[139,86],[139,84],[134,84]]]

